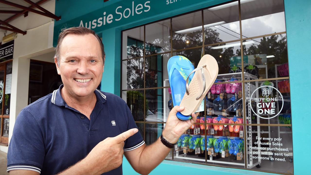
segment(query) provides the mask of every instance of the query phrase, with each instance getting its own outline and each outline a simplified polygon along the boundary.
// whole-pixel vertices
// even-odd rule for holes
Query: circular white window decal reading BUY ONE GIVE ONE
[[[267,87],[267,88],[262,88],[262,87]],[[262,118],[262,119],[271,119],[271,118],[274,118],[274,117],[276,117],[277,115],[279,115],[280,113],[281,113],[281,111],[282,111],[282,109],[283,109],[283,106],[284,106],[284,100],[283,100],[283,96],[282,96],[282,94],[281,94],[281,92],[279,91],[279,90],[277,90],[275,87],[273,87],[273,86],[261,86],[261,87],[258,87],[257,89],[255,89],[254,90],[254,92],[252,93],[252,95],[251,95],[251,97],[250,97],[250,99],[253,99],[253,95],[254,95],[254,93],[256,92],[256,91],[258,91],[258,89],[263,89],[262,90],[262,96],[263,97],[260,97],[260,98],[254,98],[254,101],[255,102],[257,102],[257,107],[259,108],[258,109],[258,111],[257,112],[255,112],[254,111],[254,109],[253,109],[253,106],[251,105],[251,102],[252,102],[252,100],[250,100],[249,101],[249,105],[251,106],[251,109],[252,109],[252,111],[253,111],[253,113],[254,114],[256,114],[256,116],[258,116],[258,117],[260,117],[260,118]],[[260,116],[260,115],[258,115],[258,113],[259,114],[262,114],[262,113],[272,113],[272,114],[275,114],[275,102],[277,102],[278,101],[278,98],[277,97],[275,97],[275,98],[269,98],[268,96],[270,95],[270,91],[269,91],[269,89],[275,89],[277,92],[279,92],[279,94],[280,94],[280,96],[281,96],[281,99],[282,99],[282,107],[281,107],[281,109],[279,110],[279,112],[276,114],[276,115],[274,115],[274,116],[272,116],[272,117],[263,117],[263,116]],[[261,104],[261,102],[263,102],[263,100],[266,100],[267,102],[269,102],[269,104],[264,104],[263,106],[262,105],[260,105]],[[259,105],[258,105],[259,104]],[[262,108],[264,108],[264,106],[266,105],[266,107],[270,107],[271,109],[262,109]],[[271,114],[270,114],[271,115]]]

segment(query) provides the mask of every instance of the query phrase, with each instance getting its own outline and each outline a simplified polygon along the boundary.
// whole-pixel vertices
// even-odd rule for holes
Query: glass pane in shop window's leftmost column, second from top
[[[122,61],[122,89],[144,88],[144,59]]]

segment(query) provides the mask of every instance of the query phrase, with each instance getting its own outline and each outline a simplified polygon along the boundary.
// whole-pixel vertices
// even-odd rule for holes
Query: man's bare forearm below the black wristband
[[[158,138],[153,144],[146,146],[139,158],[139,167],[143,169],[143,174],[149,174],[156,168],[169,154],[170,148],[162,144]]]

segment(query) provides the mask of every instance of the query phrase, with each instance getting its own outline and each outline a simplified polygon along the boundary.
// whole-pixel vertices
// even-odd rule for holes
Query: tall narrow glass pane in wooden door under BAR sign
[[[7,63],[7,71],[5,79],[4,114],[6,115],[10,114],[11,82],[12,82],[12,62]]]

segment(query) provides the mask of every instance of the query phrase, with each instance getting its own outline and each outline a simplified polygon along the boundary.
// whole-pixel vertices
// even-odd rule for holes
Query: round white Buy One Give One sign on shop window
[[[276,94],[276,92],[280,95],[272,97],[272,93]],[[256,97],[256,94],[260,94],[262,97]],[[251,104],[251,109],[254,114],[263,119],[271,119],[280,114],[284,106],[284,99],[279,90],[277,90],[273,86],[261,86],[255,89],[255,91],[251,95],[251,102],[256,103],[256,108],[254,108]],[[282,106],[279,106],[278,103],[282,102]],[[251,103],[250,102],[250,103]],[[270,117],[271,116],[271,117]]]

